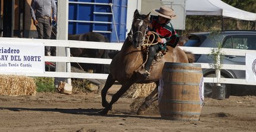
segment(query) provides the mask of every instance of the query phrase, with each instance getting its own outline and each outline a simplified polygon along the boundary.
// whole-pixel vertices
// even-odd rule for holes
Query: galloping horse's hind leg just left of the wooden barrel
[[[157,87],[154,89],[154,91],[151,92],[151,94],[149,94],[146,98],[145,101],[143,102],[143,104],[141,105],[141,107],[139,107],[137,114],[138,115],[142,115],[144,114],[144,112],[149,108],[149,106],[154,102],[157,101],[158,96],[158,82],[155,82],[157,84]]]

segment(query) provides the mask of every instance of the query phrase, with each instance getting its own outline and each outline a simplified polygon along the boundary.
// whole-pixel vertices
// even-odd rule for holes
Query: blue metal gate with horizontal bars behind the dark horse
[[[127,0],[69,0],[68,34],[89,31],[104,34],[110,42],[126,38]]]

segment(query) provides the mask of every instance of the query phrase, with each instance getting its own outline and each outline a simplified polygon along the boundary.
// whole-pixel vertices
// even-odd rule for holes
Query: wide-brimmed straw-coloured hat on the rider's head
[[[176,14],[173,9],[161,6],[160,9],[153,9],[153,12],[161,17],[168,19],[176,19]]]

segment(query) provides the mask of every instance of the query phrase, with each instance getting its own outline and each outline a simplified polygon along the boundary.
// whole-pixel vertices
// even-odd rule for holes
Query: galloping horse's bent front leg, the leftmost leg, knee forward
[[[101,90],[102,107],[108,106],[106,95],[107,95],[108,89],[110,89],[110,87],[114,84],[114,82],[115,80],[113,79],[113,76],[110,73],[108,75],[104,88]]]

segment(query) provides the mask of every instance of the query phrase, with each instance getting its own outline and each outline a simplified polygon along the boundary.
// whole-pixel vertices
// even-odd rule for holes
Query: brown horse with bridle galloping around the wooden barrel
[[[150,12],[149,12],[150,14]],[[139,74],[139,70],[142,68],[145,62],[145,54],[143,54],[142,42],[145,40],[146,29],[150,26],[149,14],[144,15],[136,9],[133,14],[132,28],[128,33],[126,40],[121,47],[121,50],[114,56],[110,64],[110,73],[107,77],[104,88],[101,91],[102,107],[104,109],[99,112],[101,115],[106,115],[108,111],[112,109],[112,105],[130,88],[133,83],[151,83],[155,82],[159,84],[161,77],[161,71],[164,66],[164,62],[179,62],[179,63],[192,63],[192,54],[185,53],[179,47],[172,48],[168,46],[168,51],[159,62],[151,66],[151,76],[149,78],[143,78]],[[121,84],[121,88],[112,96],[110,102],[106,100],[108,89],[118,81]],[[137,114],[141,114],[146,110],[151,102],[155,101],[152,98],[157,94],[158,89],[155,90],[145,99],[145,102],[139,108]]]

